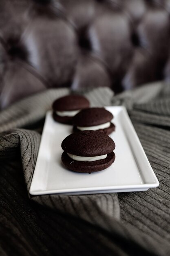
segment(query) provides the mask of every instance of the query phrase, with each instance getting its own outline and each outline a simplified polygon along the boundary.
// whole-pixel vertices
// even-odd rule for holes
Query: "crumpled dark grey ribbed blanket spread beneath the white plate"
[[[69,93],[50,89],[0,112],[0,255],[170,255],[170,85],[79,92],[91,106],[126,106],[159,187],[31,196],[46,111]]]

